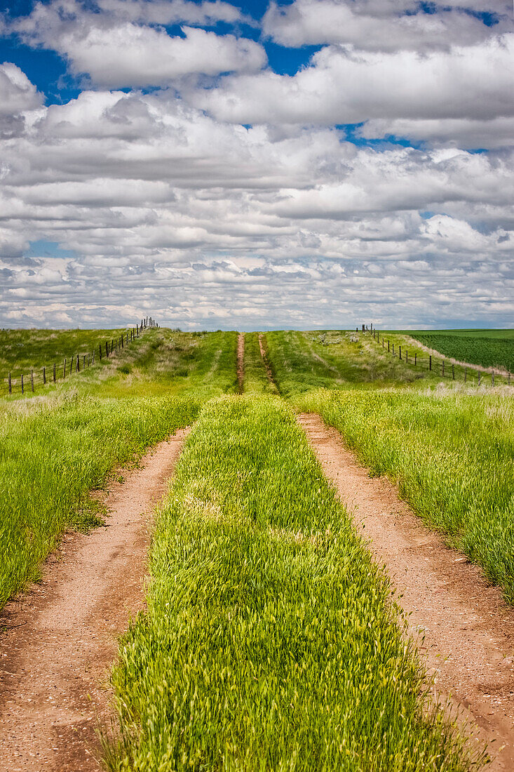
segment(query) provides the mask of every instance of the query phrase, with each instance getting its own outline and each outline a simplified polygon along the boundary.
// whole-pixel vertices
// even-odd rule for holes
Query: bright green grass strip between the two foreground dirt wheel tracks
[[[203,409],[150,571],[113,674],[111,770],[471,769],[283,401]]]

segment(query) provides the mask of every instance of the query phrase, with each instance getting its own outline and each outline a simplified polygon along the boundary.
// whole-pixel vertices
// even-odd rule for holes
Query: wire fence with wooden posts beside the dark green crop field
[[[369,333],[376,343],[387,351],[387,354],[398,357],[405,364],[433,372],[441,378],[448,378],[451,381],[462,381],[463,383],[476,386],[485,386],[485,384],[491,386],[508,384],[510,386],[511,384],[512,374],[508,371],[499,372],[494,367],[480,368],[474,367],[472,364],[455,364],[455,362],[448,361],[445,357],[438,358],[432,354],[422,356],[418,351],[413,352],[411,350],[409,354],[409,350],[405,345],[396,344],[395,347],[395,344],[391,343],[389,338],[380,333],[380,330],[374,328],[368,330],[363,325],[363,332]]]

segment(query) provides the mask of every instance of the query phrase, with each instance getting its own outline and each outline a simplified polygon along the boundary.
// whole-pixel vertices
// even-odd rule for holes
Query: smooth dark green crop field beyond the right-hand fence
[[[413,332],[411,337],[445,357],[514,371],[514,330],[437,330]]]

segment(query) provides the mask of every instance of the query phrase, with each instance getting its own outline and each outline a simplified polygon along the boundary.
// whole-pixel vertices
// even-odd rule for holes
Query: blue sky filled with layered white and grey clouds
[[[2,8],[3,327],[514,326],[512,0]]]

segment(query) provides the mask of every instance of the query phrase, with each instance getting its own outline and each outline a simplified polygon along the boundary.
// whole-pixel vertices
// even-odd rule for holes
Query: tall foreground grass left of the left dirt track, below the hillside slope
[[[191,398],[35,398],[0,404],[0,606],[39,576],[64,530],[98,522],[90,489],[177,428]]]

